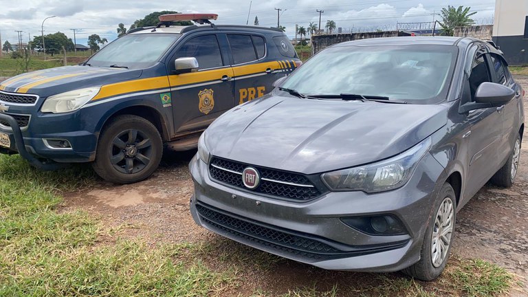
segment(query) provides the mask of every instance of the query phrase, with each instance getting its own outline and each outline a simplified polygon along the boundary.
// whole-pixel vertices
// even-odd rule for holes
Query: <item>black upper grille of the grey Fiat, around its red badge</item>
[[[246,167],[248,167],[247,164],[213,157],[209,172],[212,179],[248,190],[242,182],[242,172]],[[305,175],[258,166],[253,167],[259,170],[261,183],[252,192],[300,201],[314,199],[322,194]]]

